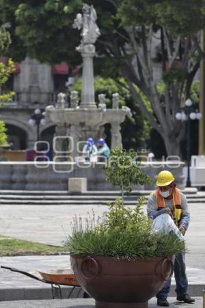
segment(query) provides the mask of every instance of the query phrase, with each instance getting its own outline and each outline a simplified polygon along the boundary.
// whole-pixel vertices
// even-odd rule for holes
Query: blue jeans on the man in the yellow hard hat
[[[176,294],[177,296],[185,295],[188,289],[188,281],[187,281],[187,274],[186,274],[186,266],[185,266],[185,254],[179,253],[175,257],[174,261],[174,277],[176,281]],[[169,279],[163,289],[156,294],[157,298],[166,299],[171,285],[171,279]]]

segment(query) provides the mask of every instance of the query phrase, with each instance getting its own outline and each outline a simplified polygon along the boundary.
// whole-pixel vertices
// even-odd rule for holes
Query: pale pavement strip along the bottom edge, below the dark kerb
[[[196,297],[195,303],[188,305],[176,301],[176,298],[168,298],[169,307],[173,308],[202,308],[202,298]],[[94,308],[94,299],[75,298],[63,300],[18,300],[0,302],[0,308]],[[157,308],[156,298],[148,301],[149,308]],[[105,307],[106,308],[106,307]]]

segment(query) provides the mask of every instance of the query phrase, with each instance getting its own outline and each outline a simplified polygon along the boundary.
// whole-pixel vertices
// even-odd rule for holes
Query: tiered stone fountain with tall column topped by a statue
[[[87,138],[94,140],[104,136],[104,125],[111,125],[111,148],[122,146],[122,136],[120,124],[124,122],[126,115],[130,114],[130,109],[126,106],[119,107],[120,97],[118,93],[113,93],[112,107],[107,109],[105,104],[105,94],[98,95],[98,104],[94,96],[94,68],[93,57],[95,46],[100,30],[96,25],[96,11],[92,5],[83,4],[83,14],[77,14],[73,27],[81,29],[81,44],[77,51],[83,57],[83,85],[81,92],[81,102],[79,103],[78,93],[71,91],[70,108],[65,107],[65,94],[58,95],[57,104],[46,107],[48,114],[56,125],[55,136],[69,136],[73,140],[72,157],[77,157],[79,151],[77,144],[83,143]],[[66,131],[66,126],[68,127]],[[60,140],[60,138],[59,138]],[[62,138],[63,140],[63,138]],[[61,145],[58,145],[61,148]]]

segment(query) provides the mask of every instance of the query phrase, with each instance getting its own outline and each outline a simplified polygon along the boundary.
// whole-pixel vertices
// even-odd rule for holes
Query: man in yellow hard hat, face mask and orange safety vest
[[[163,170],[157,176],[156,185],[159,187],[148,198],[148,217],[154,219],[161,214],[170,214],[178,229],[184,235],[189,227],[190,214],[187,198],[180,192],[174,183],[172,172]],[[174,261],[174,277],[176,280],[177,300],[191,304],[195,300],[187,292],[188,281],[184,253],[176,255]],[[167,296],[171,285],[171,279],[167,281],[163,289],[156,294],[157,305],[167,307]]]

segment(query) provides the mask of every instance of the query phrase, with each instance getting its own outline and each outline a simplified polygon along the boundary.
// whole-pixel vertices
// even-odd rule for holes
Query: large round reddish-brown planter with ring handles
[[[71,266],[96,308],[147,308],[172,277],[174,257],[137,258],[70,255]]]

